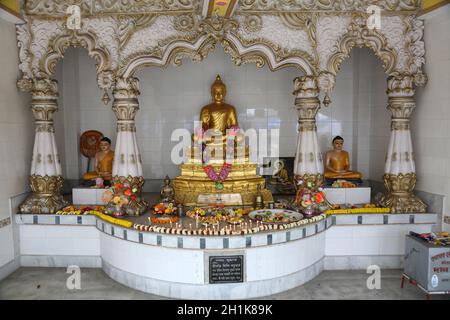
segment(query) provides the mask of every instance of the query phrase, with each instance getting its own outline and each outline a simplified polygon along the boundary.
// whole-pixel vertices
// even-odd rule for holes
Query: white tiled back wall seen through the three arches
[[[64,88],[60,108],[64,109],[65,118],[66,177],[77,179],[86,169],[86,159],[78,154],[79,135],[85,130],[99,130],[112,138],[114,144],[116,121],[111,103],[105,106],[101,102],[95,64],[84,50],[68,50],[58,70],[61,70],[60,87]],[[202,63],[185,61],[180,67],[146,68],[137,73],[141,88],[137,137],[146,179],[179,174],[178,167],[170,161],[170,152],[177,143],[170,140],[171,133],[177,128],[193,129],[201,107],[211,100],[210,86],[216,74],[220,74],[227,85],[226,100],[236,107],[240,126],[244,129],[278,128],[280,156],[295,155],[297,113],[292,80],[301,72],[295,68],[271,72],[267,67],[259,69],[252,64],[237,67],[219,48]],[[381,95],[385,99],[385,89],[372,83],[378,78],[385,86],[381,62],[369,50],[354,50],[338,74],[333,103],[329,108],[323,107],[318,115],[322,150],[331,148],[334,136],[343,136],[345,148],[352,155],[352,168],[361,171],[365,178],[373,176],[372,142],[385,143],[377,146],[376,151],[387,148],[387,140],[380,142],[378,139],[379,126],[372,126],[371,122],[373,117],[379,118],[377,110],[373,110],[374,97]],[[385,104],[382,106],[385,108]],[[382,113],[386,121],[382,128],[385,128],[389,126],[389,114],[385,109]],[[374,130],[369,130],[370,127]],[[374,156],[383,169],[384,154]],[[375,178],[381,179],[381,176],[382,173]]]

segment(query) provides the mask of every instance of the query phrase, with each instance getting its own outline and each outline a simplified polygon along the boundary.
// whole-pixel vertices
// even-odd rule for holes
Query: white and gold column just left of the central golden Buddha
[[[142,200],[144,186],[142,158],[136,141],[135,116],[139,110],[139,80],[137,78],[118,78],[113,90],[113,111],[117,117],[117,139],[114,152],[113,182],[126,183],[137,188],[138,198],[128,205],[128,214],[140,215],[147,203]]]

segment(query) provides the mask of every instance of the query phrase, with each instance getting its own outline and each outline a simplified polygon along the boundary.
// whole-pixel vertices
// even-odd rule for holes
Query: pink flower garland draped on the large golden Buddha
[[[232,127],[227,130],[227,144],[226,144],[226,154],[227,159],[229,155],[232,155],[234,152],[234,139],[236,135],[239,133],[239,127]],[[216,173],[214,167],[208,164],[209,159],[205,155],[206,143],[203,141],[204,131],[202,128],[196,130],[197,136],[200,138],[202,143],[202,165],[203,170],[211,181],[214,181],[216,190],[222,190],[224,188],[223,182],[228,178],[228,175],[231,172],[232,164],[228,162],[224,162],[222,168],[219,173]]]

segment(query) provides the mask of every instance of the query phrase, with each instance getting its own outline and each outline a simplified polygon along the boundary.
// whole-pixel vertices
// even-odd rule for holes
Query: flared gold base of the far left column
[[[53,214],[68,205],[61,195],[61,176],[30,176],[32,194],[19,206],[21,213]]]

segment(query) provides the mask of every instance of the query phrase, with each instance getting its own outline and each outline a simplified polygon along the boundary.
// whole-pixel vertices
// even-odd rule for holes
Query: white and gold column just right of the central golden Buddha
[[[294,87],[299,122],[294,175],[297,181],[310,182],[318,187],[323,183],[323,161],[316,127],[316,115],[320,109],[317,78],[314,76],[296,78]]]

